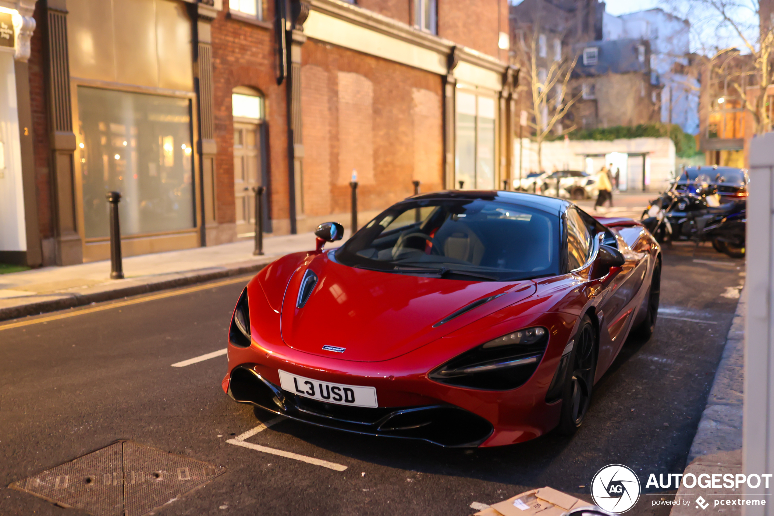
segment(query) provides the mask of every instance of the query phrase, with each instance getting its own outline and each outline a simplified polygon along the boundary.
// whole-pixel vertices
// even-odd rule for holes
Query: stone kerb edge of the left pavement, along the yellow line
[[[142,279],[122,279],[122,285],[99,285],[81,292],[63,292],[50,295],[41,295],[53,299],[44,299],[36,302],[23,302],[29,298],[19,298],[19,304],[0,308],[0,321],[17,319],[25,316],[36,316],[41,313],[55,312],[76,306],[89,305],[92,302],[111,301],[128,296],[137,296],[159,290],[173,289],[175,287],[193,285],[194,283],[208,282],[213,279],[228,278],[259,272],[266,265],[274,261],[276,256],[267,257],[265,261],[239,262],[222,267],[211,267],[185,272],[173,272],[170,274],[147,276]],[[106,288],[107,286],[107,288]]]

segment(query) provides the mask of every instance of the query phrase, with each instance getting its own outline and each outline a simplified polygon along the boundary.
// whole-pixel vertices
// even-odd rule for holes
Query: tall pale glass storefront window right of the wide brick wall
[[[495,188],[495,99],[457,91],[455,188]],[[462,186],[460,186],[462,181]]]

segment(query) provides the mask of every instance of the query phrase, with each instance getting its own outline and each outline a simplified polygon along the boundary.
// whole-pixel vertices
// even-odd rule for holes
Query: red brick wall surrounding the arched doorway
[[[225,3],[225,2],[224,2]],[[271,2],[268,2],[269,4]],[[267,19],[272,19],[272,5]],[[217,156],[215,160],[215,216],[219,224],[235,222],[234,205],[234,124],[231,92],[246,86],[265,98],[265,118],[269,124],[269,185],[272,219],[288,218],[288,167],[286,128],[286,86],[276,84],[272,31],[234,19],[226,12],[212,23],[214,76],[214,121]],[[282,225],[282,224],[280,224]],[[282,228],[278,228],[280,232]],[[286,231],[284,231],[286,232]]]

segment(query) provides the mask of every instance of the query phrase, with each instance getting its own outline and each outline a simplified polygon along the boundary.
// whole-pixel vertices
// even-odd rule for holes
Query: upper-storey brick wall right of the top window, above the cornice
[[[438,36],[507,61],[499,32],[509,32],[507,0],[438,1]]]

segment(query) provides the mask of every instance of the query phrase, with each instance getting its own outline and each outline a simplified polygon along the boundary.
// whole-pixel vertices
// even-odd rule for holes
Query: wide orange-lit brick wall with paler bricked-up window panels
[[[307,217],[348,213],[353,167],[361,211],[443,188],[440,76],[310,39],[302,92]]]

